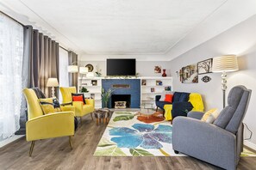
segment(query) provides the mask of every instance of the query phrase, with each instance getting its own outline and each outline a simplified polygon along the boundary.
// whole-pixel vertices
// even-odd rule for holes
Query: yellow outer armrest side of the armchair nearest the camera
[[[74,135],[74,112],[54,112],[26,123],[27,141]]]

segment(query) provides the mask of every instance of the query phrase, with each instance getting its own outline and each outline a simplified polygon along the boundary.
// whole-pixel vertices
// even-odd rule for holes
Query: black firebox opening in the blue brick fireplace
[[[126,102],[126,106],[116,107],[116,103]],[[111,108],[130,108],[131,107],[131,94],[112,94],[111,95]]]

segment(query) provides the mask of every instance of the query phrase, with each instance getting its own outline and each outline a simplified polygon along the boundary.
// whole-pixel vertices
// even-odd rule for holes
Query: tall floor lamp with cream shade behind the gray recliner
[[[227,72],[238,70],[235,55],[225,55],[213,58],[212,72],[222,72],[223,108],[226,106]]]

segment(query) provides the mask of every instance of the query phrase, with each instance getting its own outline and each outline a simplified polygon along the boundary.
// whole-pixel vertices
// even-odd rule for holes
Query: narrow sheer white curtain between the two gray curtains
[[[59,87],[69,87],[67,66],[68,52],[59,47]],[[62,103],[62,95],[60,92],[59,102]]]

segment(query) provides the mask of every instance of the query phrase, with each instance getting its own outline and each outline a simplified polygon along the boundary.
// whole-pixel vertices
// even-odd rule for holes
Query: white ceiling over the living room
[[[41,32],[58,40],[60,45],[79,54],[162,55],[166,59],[170,52],[173,53],[172,49],[175,50],[179,43],[184,43],[184,39],[202,28],[207,20],[224,7],[227,9],[227,0],[2,0],[0,2],[0,10],[3,12],[22,23],[32,24]],[[227,13],[227,15],[232,14]],[[232,27],[237,22],[239,21],[227,25]],[[223,30],[224,27],[220,31]],[[197,42],[197,39],[195,41]]]

